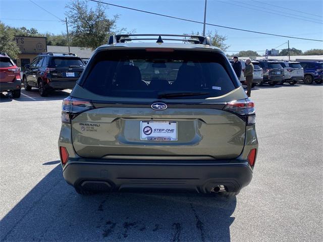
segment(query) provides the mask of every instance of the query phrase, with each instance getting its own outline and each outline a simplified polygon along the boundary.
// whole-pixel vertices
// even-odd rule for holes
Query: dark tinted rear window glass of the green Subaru
[[[99,95],[169,98],[165,94],[171,94],[171,98],[203,99],[235,89],[228,74],[230,64],[217,53],[108,50],[94,59],[83,87]],[[180,93],[190,94],[174,95]]]

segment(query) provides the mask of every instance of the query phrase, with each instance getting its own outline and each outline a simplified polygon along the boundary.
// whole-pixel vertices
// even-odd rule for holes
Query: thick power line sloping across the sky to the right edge
[[[142,12],[142,13],[146,13],[146,14],[152,14],[152,15],[157,15],[157,16],[162,16],[162,17],[167,17],[167,18],[172,18],[172,19],[178,19],[178,20],[183,20],[183,21],[197,23],[197,24],[203,24],[203,22],[200,22],[200,21],[195,21],[195,20],[190,20],[190,19],[184,19],[184,18],[174,17],[174,16],[170,16],[170,15],[165,15],[165,14],[157,14],[157,13],[154,13],[154,12],[149,12],[149,11],[144,11],[144,10],[139,10],[139,9],[124,7],[124,6],[120,6],[120,5],[116,5],[116,4],[104,3],[104,2],[101,2],[101,1],[97,1],[97,0],[89,0],[89,1],[95,2],[95,3],[100,3],[100,4],[111,5],[111,6],[118,7],[118,8],[123,8],[123,9],[134,10],[134,11],[138,11],[138,12]],[[285,38],[291,38],[291,39],[303,39],[303,40],[311,40],[311,41],[323,42],[323,40],[320,40],[320,39],[308,39],[308,38],[299,38],[299,37],[292,37],[292,36],[280,35],[280,34],[264,33],[264,32],[258,32],[258,31],[253,31],[253,30],[233,28],[233,27],[228,27],[228,26],[223,26],[223,25],[217,25],[217,24],[206,23],[206,25],[215,26],[215,27],[219,27],[219,28],[239,30],[239,31],[244,31],[244,32],[250,32],[250,33],[256,33],[256,34],[266,34],[266,35],[272,35],[272,36],[278,36],[278,37],[285,37]]]

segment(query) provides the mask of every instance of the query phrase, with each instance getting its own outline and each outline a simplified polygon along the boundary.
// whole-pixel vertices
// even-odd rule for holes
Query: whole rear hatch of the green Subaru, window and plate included
[[[114,51],[98,53],[71,93],[94,107],[72,119],[80,156],[203,160],[240,155],[246,122],[222,109],[246,95],[232,81],[224,55]]]

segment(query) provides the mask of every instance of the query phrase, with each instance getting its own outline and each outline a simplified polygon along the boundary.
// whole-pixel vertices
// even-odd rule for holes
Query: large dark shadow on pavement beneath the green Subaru
[[[235,208],[194,193],[81,196],[57,165],[1,220],[1,241],[230,241]]]

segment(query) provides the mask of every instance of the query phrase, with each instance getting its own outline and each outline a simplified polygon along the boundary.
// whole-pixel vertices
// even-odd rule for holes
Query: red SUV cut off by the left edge
[[[11,92],[13,98],[20,97],[20,70],[6,53],[0,53],[0,93]]]

